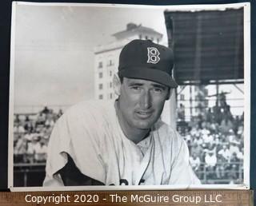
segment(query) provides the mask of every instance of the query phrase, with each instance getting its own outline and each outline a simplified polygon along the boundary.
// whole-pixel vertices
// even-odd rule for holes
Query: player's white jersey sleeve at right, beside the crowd
[[[169,184],[180,184],[190,187],[191,184],[201,184],[198,177],[194,174],[190,166],[190,153],[186,142],[177,133],[175,141],[175,149],[178,153],[174,156],[171,164],[171,176]]]

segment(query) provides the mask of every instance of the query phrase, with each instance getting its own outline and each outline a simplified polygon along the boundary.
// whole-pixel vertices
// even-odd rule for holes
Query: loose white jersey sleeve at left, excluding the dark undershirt
[[[82,174],[105,182],[106,172],[98,138],[101,134],[93,119],[90,112],[71,110],[58,120],[48,145],[44,186],[64,185],[58,171],[66,165],[68,156]]]

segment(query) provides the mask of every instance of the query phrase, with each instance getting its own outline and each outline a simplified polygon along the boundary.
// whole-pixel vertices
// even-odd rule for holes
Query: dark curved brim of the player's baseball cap
[[[170,88],[177,88],[178,84],[174,81],[168,73],[165,73],[157,69],[149,68],[133,68],[133,69],[122,69],[118,72],[122,77],[145,79],[150,81],[158,82],[159,84],[169,86]]]

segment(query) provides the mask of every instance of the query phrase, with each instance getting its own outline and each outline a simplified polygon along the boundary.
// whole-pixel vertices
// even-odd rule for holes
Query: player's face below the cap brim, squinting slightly
[[[118,100],[122,124],[130,129],[150,129],[158,121],[169,95],[166,85],[124,77]]]

